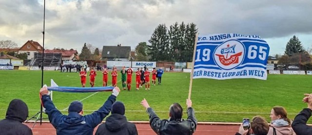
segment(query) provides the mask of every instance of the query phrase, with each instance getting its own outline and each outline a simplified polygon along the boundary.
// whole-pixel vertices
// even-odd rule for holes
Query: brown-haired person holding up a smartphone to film
[[[265,118],[255,116],[250,122],[250,129],[244,130],[243,125],[241,125],[235,135],[268,135],[269,128],[270,126]]]

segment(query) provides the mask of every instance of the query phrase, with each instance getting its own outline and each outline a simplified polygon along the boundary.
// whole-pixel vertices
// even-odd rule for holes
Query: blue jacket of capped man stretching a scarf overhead
[[[68,116],[54,106],[50,96],[42,96],[42,103],[46,108],[50,123],[57,130],[57,135],[93,135],[94,128],[110,113],[116,96],[111,95],[98,111],[81,116],[76,112],[70,112]]]

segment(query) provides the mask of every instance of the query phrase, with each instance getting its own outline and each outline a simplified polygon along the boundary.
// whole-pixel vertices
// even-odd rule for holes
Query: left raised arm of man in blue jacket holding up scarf
[[[46,109],[45,113],[48,115],[50,123],[57,128],[60,120],[66,116],[62,115],[62,113],[55,107],[48,93],[49,91],[46,86],[43,86],[43,88],[40,89],[40,94],[42,96],[41,101],[43,107]]]

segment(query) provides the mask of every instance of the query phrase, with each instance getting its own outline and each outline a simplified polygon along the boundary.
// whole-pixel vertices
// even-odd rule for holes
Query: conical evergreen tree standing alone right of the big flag
[[[292,56],[295,53],[302,53],[304,51],[305,49],[302,46],[298,37],[293,35],[293,37],[287,42],[285,54],[287,54],[288,56]]]

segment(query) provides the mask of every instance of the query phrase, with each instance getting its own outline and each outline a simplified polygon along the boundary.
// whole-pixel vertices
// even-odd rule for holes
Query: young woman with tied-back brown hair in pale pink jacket
[[[273,107],[270,118],[271,126],[268,135],[296,135],[292,130],[292,121],[287,118],[287,111],[284,107]]]

